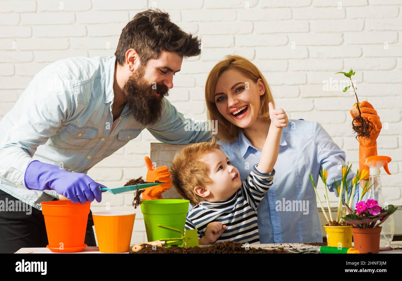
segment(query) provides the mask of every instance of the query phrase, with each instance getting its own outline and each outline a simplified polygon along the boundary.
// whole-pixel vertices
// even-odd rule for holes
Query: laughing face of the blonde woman
[[[222,116],[240,128],[248,128],[258,117],[264,93],[262,79],[255,83],[241,71],[229,69],[219,76],[214,99]]]

